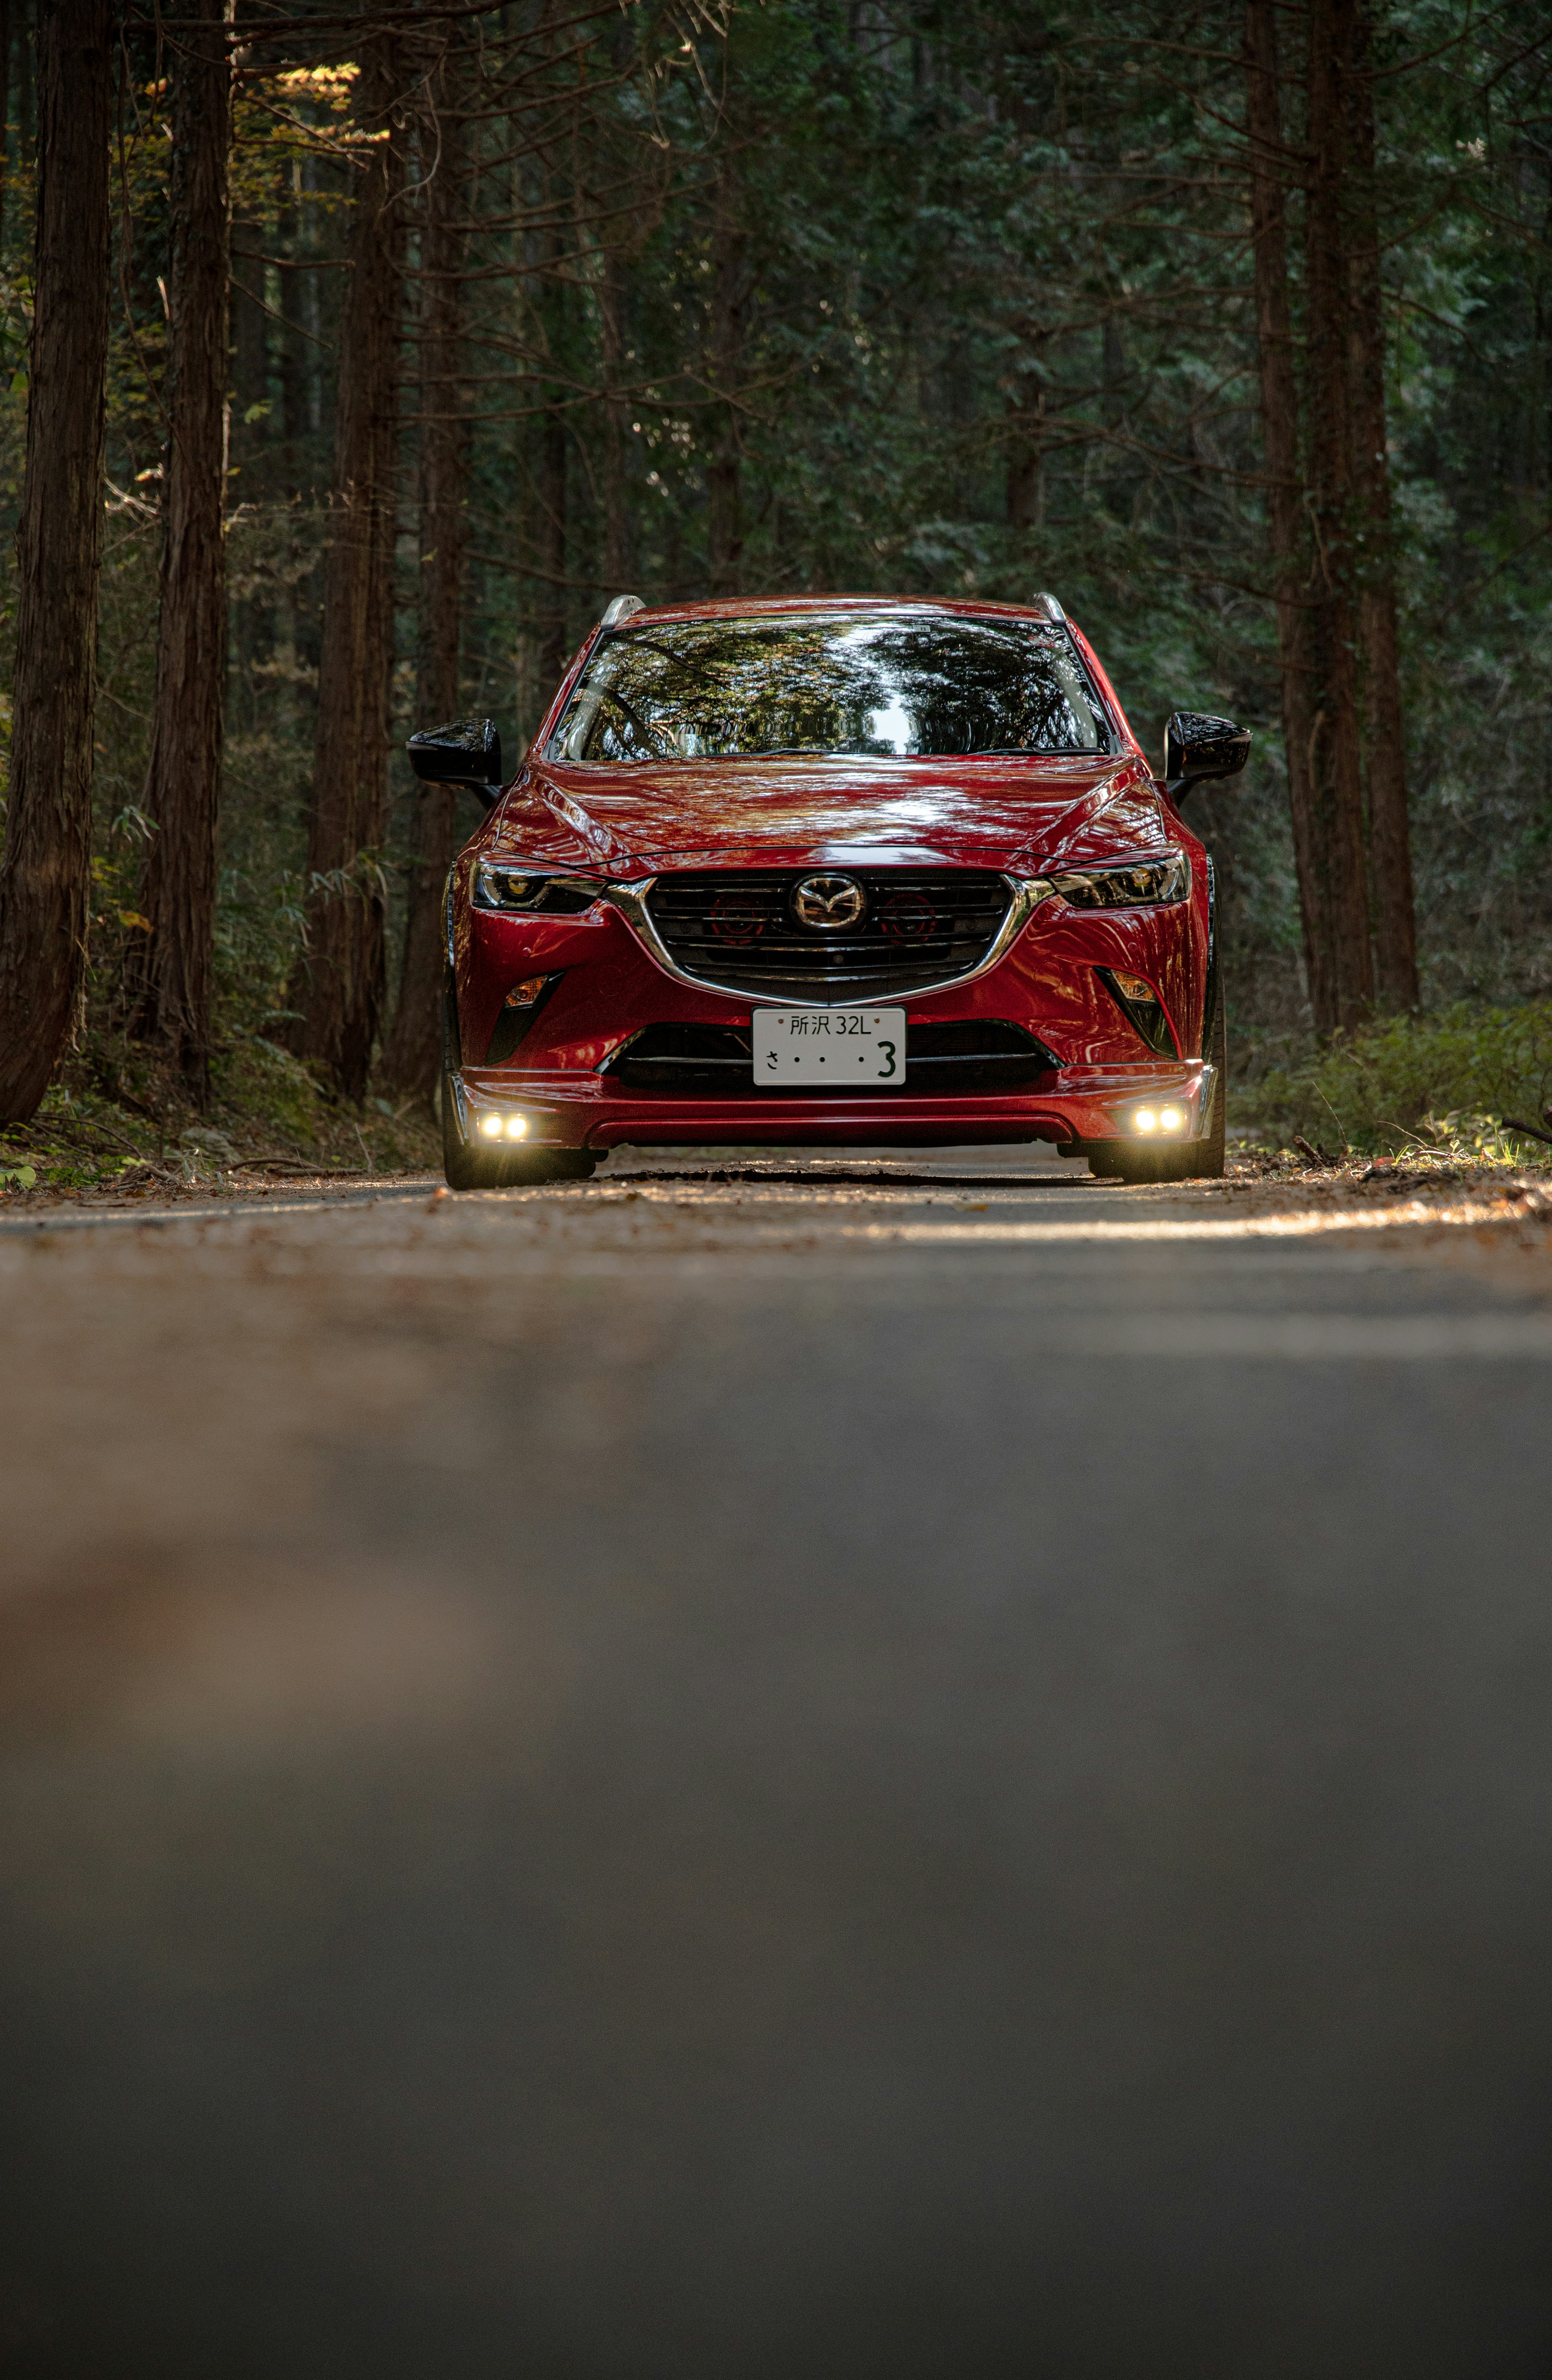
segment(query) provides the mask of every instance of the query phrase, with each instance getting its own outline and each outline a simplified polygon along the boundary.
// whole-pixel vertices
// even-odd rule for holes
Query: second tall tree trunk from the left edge
[[[229,0],[190,0],[171,57],[167,478],[162,619],[145,814],[140,1031],[209,1097],[209,959],[226,700],[226,293],[231,278]]]

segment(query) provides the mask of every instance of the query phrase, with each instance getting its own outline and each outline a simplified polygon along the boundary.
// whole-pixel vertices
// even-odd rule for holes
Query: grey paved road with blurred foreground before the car
[[[1024,1166],[0,1233],[7,2380],[1552,2368],[1552,1257]]]

